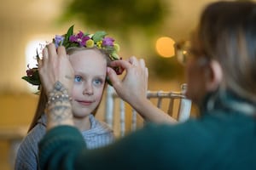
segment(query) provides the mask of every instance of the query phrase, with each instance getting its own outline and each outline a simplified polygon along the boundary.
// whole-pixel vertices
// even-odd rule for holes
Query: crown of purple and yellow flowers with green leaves
[[[64,46],[66,49],[73,47],[99,48],[108,55],[110,60],[113,61],[121,59],[117,54],[117,52],[119,51],[119,44],[115,43],[112,37],[106,36],[107,33],[105,31],[96,31],[95,34],[84,34],[84,32],[79,31],[79,33],[74,34],[73,26],[71,26],[68,29],[67,34],[63,36],[56,35],[55,38],[53,38],[53,42],[55,43],[56,48],[61,45]],[[39,59],[38,51],[36,58]],[[38,86],[39,88],[41,82],[38,73],[38,67],[29,68],[29,65],[27,65],[27,67],[28,70],[26,70],[26,77],[22,77],[22,79],[26,80],[26,82],[29,82],[32,85]],[[117,74],[121,74],[122,72],[119,67],[115,67],[113,69],[117,72]],[[108,80],[108,77],[107,81],[109,84],[111,84],[111,82]]]

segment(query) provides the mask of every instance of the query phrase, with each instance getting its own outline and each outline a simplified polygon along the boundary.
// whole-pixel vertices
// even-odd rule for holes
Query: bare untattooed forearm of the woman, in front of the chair
[[[146,121],[155,123],[176,123],[177,121],[172,116],[167,115],[164,111],[157,108],[148,99],[138,100],[132,104],[133,108]]]

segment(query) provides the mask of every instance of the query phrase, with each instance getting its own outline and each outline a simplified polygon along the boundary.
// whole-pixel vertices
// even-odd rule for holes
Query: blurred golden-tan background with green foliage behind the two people
[[[9,0],[0,6],[0,169],[13,167],[11,142],[27,131],[38,95],[26,76],[39,43],[55,34],[107,31],[120,45],[120,55],[146,60],[150,90],[179,90],[183,66],[173,43],[187,40],[201,9],[212,0]],[[32,65],[31,65],[32,66]],[[101,109],[100,109],[101,112]],[[102,109],[103,112],[103,109]],[[102,119],[101,114],[98,115]]]

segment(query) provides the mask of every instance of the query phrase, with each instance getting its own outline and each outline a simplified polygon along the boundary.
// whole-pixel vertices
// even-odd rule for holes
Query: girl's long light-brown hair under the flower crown
[[[77,51],[82,51],[82,50],[87,50],[87,49],[95,49],[96,51],[99,51],[99,53],[102,54],[103,57],[105,57],[105,59],[107,59],[107,65],[110,63],[110,59],[108,57],[108,54],[105,52],[105,50],[99,49],[99,48],[84,48],[84,47],[73,47],[73,48],[67,48],[67,54],[74,54]],[[106,87],[106,84],[104,84],[104,89]],[[101,99],[102,100],[102,99]],[[32,118],[32,122],[28,128],[28,133],[32,130],[33,127],[35,127],[38,123],[38,119],[44,115],[44,110],[45,110],[45,105],[48,102],[48,98],[47,95],[45,93],[44,87],[41,86],[40,88],[40,94],[39,94],[39,99],[38,99],[38,106],[37,106],[37,110]],[[101,103],[101,102],[100,102]],[[99,105],[100,105],[99,103]],[[96,111],[98,110],[99,105],[96,106],[96,109],[94,111],[92,111],[92,115],[96,115]]]

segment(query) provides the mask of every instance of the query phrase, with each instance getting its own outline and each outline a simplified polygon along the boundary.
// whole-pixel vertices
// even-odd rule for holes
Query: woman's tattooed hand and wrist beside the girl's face
[[[69,97],[73,87],[73,68],[66,49],[61,46],[56,50],[54,43],[47,45],[43,50],[43,59],[38,61],[38,69],[48,96],[48,129],[58,125],[73,125]]]

